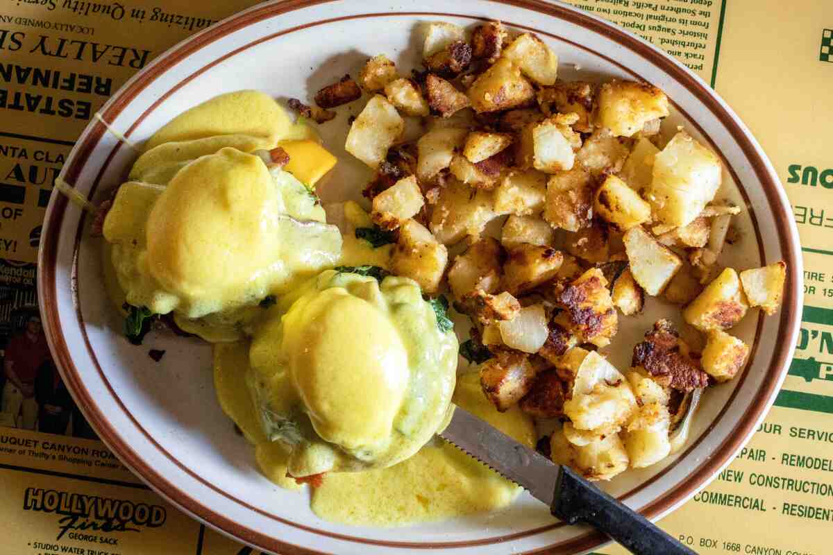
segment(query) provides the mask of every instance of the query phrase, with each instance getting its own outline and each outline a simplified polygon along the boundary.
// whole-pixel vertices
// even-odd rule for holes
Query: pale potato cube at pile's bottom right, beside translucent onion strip
[[[668,431],[671,415],[658,403],[643,404],[623,434],[625,449],[632,468],[646,468],[659,463],[671,453]]]

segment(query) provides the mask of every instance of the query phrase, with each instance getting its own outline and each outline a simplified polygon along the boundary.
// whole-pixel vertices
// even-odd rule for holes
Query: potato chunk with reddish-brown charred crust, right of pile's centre
[[[619,330],[607,280],[598,268],[586,270],[558,297],[565,307],[570,327],[581,343],[604,347]]]

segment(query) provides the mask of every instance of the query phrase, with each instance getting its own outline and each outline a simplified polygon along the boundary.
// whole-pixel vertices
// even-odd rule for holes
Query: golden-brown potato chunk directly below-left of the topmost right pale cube
[[[471,83],[468,97],[478,113],[503,111],[534,101],[535,89],[521,75],[519,67],[501,57]]]

